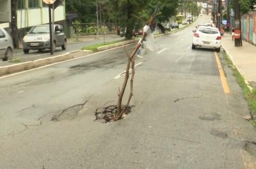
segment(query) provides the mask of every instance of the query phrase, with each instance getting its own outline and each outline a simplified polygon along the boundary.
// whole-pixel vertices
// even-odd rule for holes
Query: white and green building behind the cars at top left
[[[65,0],[59,3],[54,22],[64,25]],[[48,6],[42,0],[0,0],[0,4],[0,27],[9,29],[16,47],[30,27],[49,23]]]

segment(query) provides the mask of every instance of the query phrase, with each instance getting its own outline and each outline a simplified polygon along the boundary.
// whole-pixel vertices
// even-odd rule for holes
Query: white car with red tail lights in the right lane
[[[221,39],[220,31],[216,27],[200,26],[194,34],[192,49],[196,47],[214,48],[220,52]]]

